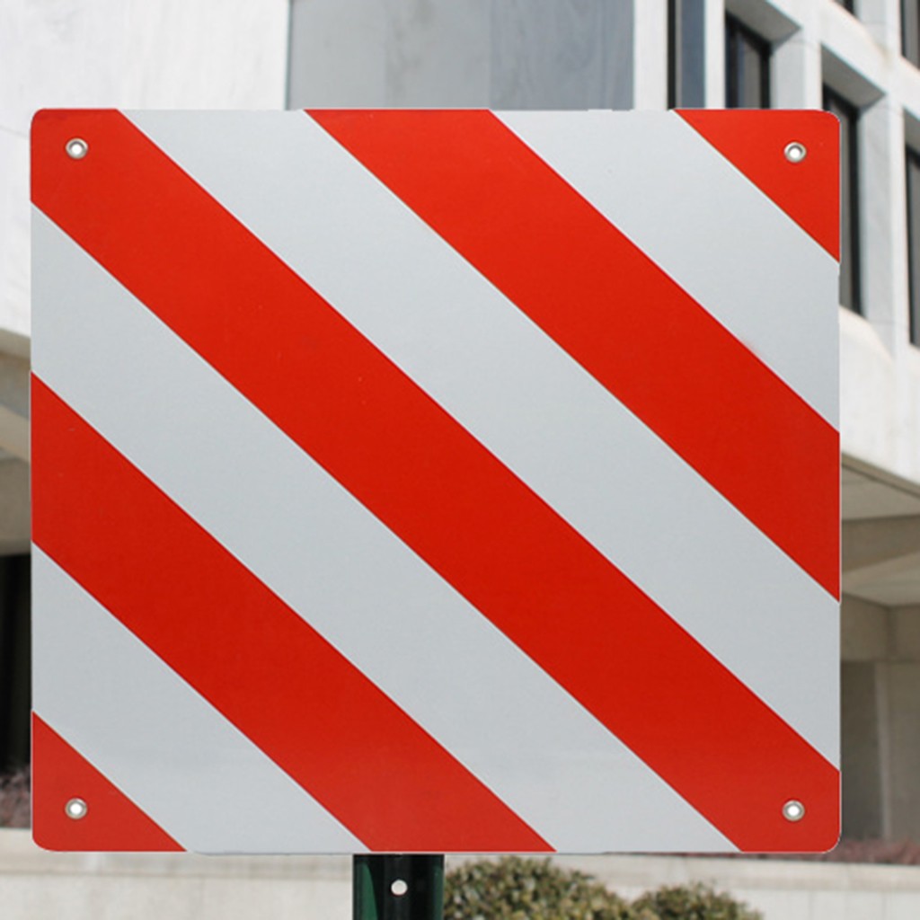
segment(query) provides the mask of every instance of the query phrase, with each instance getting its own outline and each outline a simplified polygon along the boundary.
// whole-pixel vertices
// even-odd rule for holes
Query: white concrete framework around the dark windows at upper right
[[[857,17],[833,0],[708,0],[710,106],[724,104],[726,11],[773,43],[776,108],[820,108],[825,82],[860,107],[865,310],[841,312],[843,448],[920,482],[920,351],[908,341],[903,161],[905,141],[920,142],[920,72],[901,56],[898,0],[857,0]],[[637,53],[641,68],[645,48]]]

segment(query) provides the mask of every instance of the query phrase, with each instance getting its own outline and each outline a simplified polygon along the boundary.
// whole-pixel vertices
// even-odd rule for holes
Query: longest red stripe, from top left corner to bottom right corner
[[[52,220],[737,845],[830,845],[832,765],[129,122],[67,118]]]

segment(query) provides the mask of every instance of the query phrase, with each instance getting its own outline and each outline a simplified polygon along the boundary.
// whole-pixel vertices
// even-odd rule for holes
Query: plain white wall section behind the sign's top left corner
[[[0,346],[29,334],[36,109],[283,108],[287,0],[0,4]]]

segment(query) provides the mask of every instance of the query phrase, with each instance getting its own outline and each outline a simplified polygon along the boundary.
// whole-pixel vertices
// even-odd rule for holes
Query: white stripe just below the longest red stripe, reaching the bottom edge
[[[40,379],[551,845],[734,849],[40,213],[33,233]]]

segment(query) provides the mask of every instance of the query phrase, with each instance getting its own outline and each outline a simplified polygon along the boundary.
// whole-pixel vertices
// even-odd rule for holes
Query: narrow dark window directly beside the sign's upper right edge
[[[824,109],[840,120],[840,305],[862,312],[859,281],[859,112],[824,86]]]

